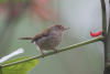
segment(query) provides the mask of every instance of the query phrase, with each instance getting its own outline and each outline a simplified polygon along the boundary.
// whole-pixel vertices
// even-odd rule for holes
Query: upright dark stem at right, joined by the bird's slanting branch
[[[106,9],[106,0],[100,0],[101,1],[101,10],[102,10],[102,35],[105,36],[103,40],[103,51],[105,51],[105,71],[103,74],[107,73],[107,62],[108,62],[108,34],[107,34],[107,9]]]

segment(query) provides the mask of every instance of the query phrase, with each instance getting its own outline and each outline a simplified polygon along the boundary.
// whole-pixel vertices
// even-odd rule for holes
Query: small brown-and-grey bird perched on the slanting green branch
[[[56,46],[62,42],[63,32],[68,29],[62,24],[54,24],[33,38],[20,38],[20,40],[31,40],[32,43],[35,43],[40,47],[42,56],[44,57],[43,51],[54,50],[56,53],[58,52]]]

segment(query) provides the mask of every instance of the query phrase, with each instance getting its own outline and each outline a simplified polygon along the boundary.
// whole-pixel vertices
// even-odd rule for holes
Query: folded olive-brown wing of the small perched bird
[[[42,39],[43,36],[47,36],[50,33],[50,28],[47,28],[46,30],[44,30],[43,32],[38,33],[37,35],[35,35],[32,40],[32,43],[34,41],[37,41],[38,39]]]

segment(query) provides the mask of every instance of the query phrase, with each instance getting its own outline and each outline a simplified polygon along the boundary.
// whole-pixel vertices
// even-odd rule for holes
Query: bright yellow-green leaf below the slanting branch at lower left
[[[28,57],[20,57],[20,59],[11,60],[3,64],[8,64],[8,63],[25,60],[25,59]],[[37,64],[37,62],[38,62],[37,60],[31,60],[28,62],[2,67],[2,74],[28,74],[28,72],[31,71]]]

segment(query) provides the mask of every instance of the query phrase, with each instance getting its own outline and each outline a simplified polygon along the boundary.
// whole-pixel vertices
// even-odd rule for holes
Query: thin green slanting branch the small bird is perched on
[[[88,41],[84,41],[84,42],[80,42],[80,43],[77,43],[77,44],[74,44],[74,45],[69,45],[67,47],[59,50],[58,52],[64,52],[64,51],[68,51],[68,50],[75,49],[75,47],[80,47],[82,45],[90,44],[90,43],[98,42],[98,41],[102,41],[102,40],[103,40],[103,36],[98,36],[98,38],[95,38],[95,39],[91,39],[91,40],[88,40]],[[55,52],[45,53],[44,56],[48,56],[48,55],[53,55],[53,54],[56,54],[56,53]],[[9,64],[1,64],[1,67],[7,67],[7,66],[14,65],[14,64],[28,62],[28,61],[31,61],[31,60],[41,59],[41,57],[42,57],[42,55],[37,55],[37,56],[33,56],[33,57],[30,57],[30,59],[21,60],[21,61],[9,63]]]

